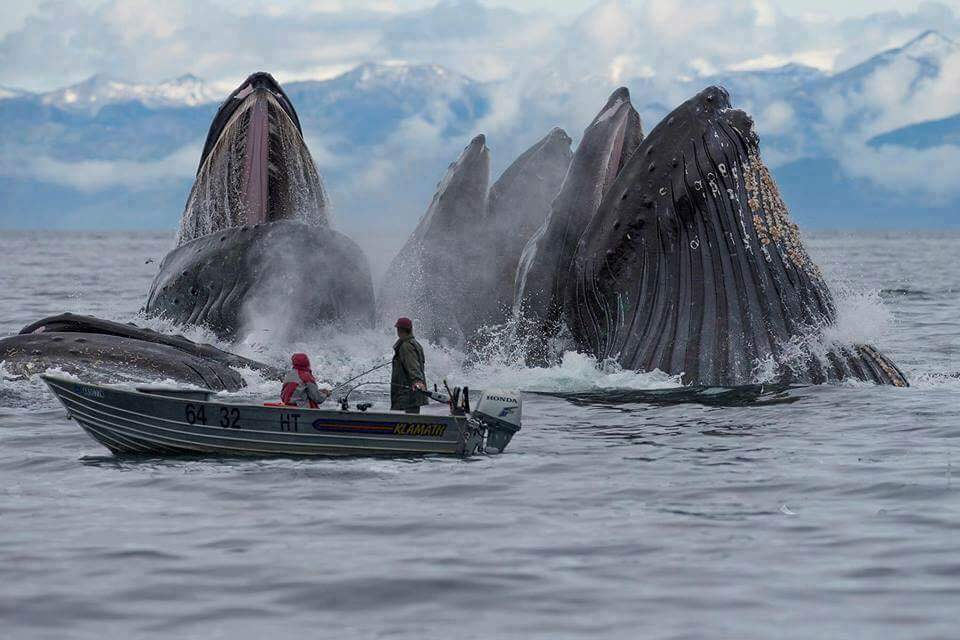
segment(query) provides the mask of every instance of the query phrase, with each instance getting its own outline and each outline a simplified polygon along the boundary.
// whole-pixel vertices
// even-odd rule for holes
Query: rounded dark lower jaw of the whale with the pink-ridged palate
[[[276,339],[318,326],[373,323],[366,258],[329,228],[280,221],[208,234],[171,251],[145,307],[224,339],[270,328]]]

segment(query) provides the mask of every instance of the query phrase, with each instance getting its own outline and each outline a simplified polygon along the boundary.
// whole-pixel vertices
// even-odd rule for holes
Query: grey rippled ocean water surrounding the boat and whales
[[[667,376],[576,354],[464,370],[429,347],[433,379],[527,392],[505,454],[130,460],[0,368],[0,637],[960,637],[960,235],[807,240],[836,331],[912,388],[654,404]],[[0,335],[136,320],[171,242],[3,232]],[[236,349],[307,349],[335,382],[391,343]]]

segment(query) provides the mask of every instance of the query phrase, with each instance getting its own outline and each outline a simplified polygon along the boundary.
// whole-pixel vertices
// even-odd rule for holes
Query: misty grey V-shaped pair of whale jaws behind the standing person
[[[503,323],[523,246],[546,217],[570,158],[570,137],[555,128],[491,187],[486,138],[471,140],[391,263],[381,316],[417,316],[420,335],[457,346]]]

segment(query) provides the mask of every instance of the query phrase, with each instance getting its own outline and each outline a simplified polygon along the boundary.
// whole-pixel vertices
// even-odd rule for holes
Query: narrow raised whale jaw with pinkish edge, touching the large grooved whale
[[[547,359],[546,338],[560,330],[563,287],[580,233],[600,206],[627,159],[643,140],[640,115],[620,87],[590,122],[549,215],[523,248],[515,282],[514,312],[523,319],[527,359]]]

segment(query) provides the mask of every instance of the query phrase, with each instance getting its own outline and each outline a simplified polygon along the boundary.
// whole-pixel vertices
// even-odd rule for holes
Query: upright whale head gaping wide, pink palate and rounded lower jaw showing
[[[214,117],[145,311],[223,338],[370,325],[369,266],[327,210],[293,105],[269,74],[251,75]]]

